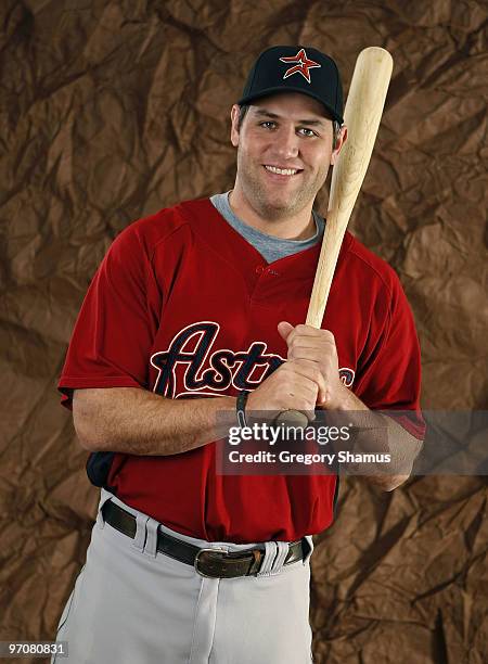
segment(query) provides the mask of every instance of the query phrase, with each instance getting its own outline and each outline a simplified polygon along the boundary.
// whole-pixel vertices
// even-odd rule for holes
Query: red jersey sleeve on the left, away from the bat
[[[97,270],[75,323],[57,384],[72,408],[74,388],[146,387],[162,294],[151,256],[129,226]]]

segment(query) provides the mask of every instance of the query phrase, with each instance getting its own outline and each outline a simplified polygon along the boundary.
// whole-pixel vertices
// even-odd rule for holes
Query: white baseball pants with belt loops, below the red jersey
[[[136,538],[104,523],[106,500],[133,514]],[[284,546],[266,544],[257,576],[205,578],[156,551],[157,528],[200,548],[229,551],[253,544],[208,542],[176,533],[102,489],[84,565],[56,641],[68,656],[51,664],[306,664],[311,659],[309,557],[286,566]],[[278,566],[275,567],[278,561]]]

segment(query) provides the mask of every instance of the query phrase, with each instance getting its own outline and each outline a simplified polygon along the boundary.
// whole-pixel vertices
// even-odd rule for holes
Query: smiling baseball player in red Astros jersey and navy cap
[[[101,487],[56,637],[75,664],[310,662],[311,536],[336,476],[217,473],[218,414],[419,407],[399,280],[349,233],[323,329],[300,324],[313,202],[346,140],[336,64],[266,50],[231,120],[233,189],[125,229],[73,332],[59,388]],[[422,437],[415,418],[402,430]]]

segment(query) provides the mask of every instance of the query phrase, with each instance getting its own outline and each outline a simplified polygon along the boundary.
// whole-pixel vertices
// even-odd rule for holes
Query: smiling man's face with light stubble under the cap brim
[[[234,190],[246,204],[269,220],[311,208],[341,148],[333,150],[332,120],[322,104],[284,92],[253,102],[240,129],[237,105],[231,118],[237,148]]]

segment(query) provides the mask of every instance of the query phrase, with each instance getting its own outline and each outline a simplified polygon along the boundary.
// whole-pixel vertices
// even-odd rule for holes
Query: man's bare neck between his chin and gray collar
[[[247,201],[239,188],[229,194],[229,204],[233,213],[247,226],[261,233],[280,238],[281,240],[308,240],[316,234],[316,221],[311,214],[312,204],[296,214],[269,219],[259,214]]]

